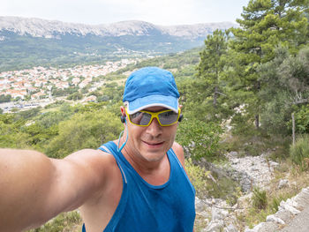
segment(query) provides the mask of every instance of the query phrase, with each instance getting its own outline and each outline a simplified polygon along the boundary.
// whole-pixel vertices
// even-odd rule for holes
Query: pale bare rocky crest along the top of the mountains
[[[237,26],[231,22],[203,23],[193,25],[158,26],[140,20],[127,20],[111,24],[87,25],[67,23],[59,20],[38,18],[22,18],[14,16],[0,16],[0,31],[7,30],[19,35],[30,34],[34,37],[55,38],[55,34],[79,34],[85,36],[122,36],[122,35],[147,35],[151,31],[170,36],[196,39],[206,37],[215,29],[227,29]]]

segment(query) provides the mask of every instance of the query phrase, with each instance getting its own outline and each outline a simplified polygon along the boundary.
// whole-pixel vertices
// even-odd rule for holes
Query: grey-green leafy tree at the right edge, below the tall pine
[[[289,131],[292,112],[297,113],[298,129],[307,127],[306,111],[300,109],[309,102],[309,47],[297,56],[290,55],[286,48],[276,49],[275,54],[273,61],[258,69],[260,81],[268,83],[259,93],[265,102],[261,121],[268,131],[284,134]]]

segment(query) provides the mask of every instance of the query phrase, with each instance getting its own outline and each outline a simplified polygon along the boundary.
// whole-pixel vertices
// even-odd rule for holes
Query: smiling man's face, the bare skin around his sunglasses
[[[162,111],[165,108],[151,107],[144,110],[151,112]],[[126,150],[131,155],[143,161],[160,161],[173,145],[177,124],[161,126],[154,118],[149,126],[138,126],[128,122],[129,138]]]

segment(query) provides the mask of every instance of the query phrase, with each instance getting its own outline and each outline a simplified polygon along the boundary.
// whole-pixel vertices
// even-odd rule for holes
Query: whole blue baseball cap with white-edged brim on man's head
[[[124,104],[128,114],[161,106],[178,112],[179,93],[173,74],[157,67],[133,71],[124,86]]]

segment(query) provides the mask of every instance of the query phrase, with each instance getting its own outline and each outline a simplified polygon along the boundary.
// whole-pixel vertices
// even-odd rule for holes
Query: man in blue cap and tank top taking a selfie
[[[83,231],[187,232],[194,189],[175,141],[181,120],[170,71],[134,71],[124,87],[124,132],[63,160],[0,150],[0,230],[35,228],[80,207]]]

